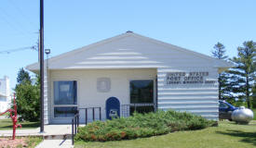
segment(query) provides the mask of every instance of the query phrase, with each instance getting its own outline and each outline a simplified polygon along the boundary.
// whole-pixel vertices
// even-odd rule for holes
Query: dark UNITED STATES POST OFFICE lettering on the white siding
[[[192,72],[168,72],[166,76],[166,84],[213,84],[217,80],[207,80],[208,71],[192,71]]]

